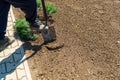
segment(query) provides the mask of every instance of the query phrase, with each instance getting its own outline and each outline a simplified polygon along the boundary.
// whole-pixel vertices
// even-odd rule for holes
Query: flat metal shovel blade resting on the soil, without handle
[[[55,28],[51,26],[48,29],[43,29],[42,37],[45,43],[55,41],[56,40]]]

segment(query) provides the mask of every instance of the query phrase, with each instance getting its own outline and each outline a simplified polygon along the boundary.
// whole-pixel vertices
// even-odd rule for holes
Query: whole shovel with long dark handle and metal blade
[[[56,32],[55,32],[55,29],[53,26],[48,27],[48,15],[47,15],[46,7],[45,7],[45,1],[44,0],[41,0],[41,1],[42,1],[43,13],[44,13],[44,17],[45,17],[45,26],[42,29],[41,33],[42,33],[44,42],[48,43],[48,42],[52,42],[52,41],[56,40]],[[46,27],[48,27],[48,28],[46,28]]]

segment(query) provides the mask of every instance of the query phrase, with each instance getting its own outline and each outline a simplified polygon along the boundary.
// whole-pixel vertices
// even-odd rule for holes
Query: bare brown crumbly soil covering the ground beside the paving
[[[41,35],[26,42],[33,80],[120,80],[120,1],[48,1],[59,9],[53,25],[64,47],[48,50]]]

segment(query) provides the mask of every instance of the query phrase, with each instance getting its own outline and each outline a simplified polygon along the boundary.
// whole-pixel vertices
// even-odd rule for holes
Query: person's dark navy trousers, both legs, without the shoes
[[[0,0],[0,39],[6,34],[10,5],[20,8],[26,14],[25,18],[28,22],[34,22],[37,17],[36,0]]]

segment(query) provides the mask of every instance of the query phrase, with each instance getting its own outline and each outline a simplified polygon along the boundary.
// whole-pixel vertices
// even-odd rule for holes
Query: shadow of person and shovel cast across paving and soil
[[[24,52],[26,50],[33,50],[33,53],[27,58],[24,58],[25,55],[24,52],[22,53],[20,52],[21,48],[23,48],[23,46],[25,45],[27,45],[28,47],[24,49]],[[42,45],[43,44],[31,45],[30,42],[25,42],[18,49],[16,49],[15,52],[13,52],[10,56],[0,61],[0,80],[6,80],[6,76],[8,74],[13,73],[21,63],[34,56],[39,50],[41,50]]]

